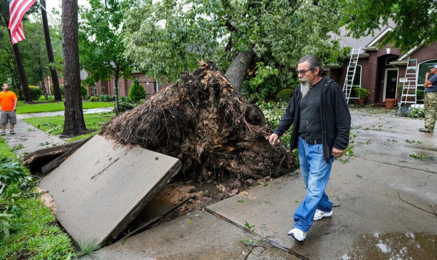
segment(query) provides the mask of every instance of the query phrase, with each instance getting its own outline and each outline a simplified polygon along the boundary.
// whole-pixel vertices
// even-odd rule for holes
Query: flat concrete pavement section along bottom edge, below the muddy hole
[[[251,246],[242,242],[244,238],[262,240],[208,212],[194,211],[104,247],[95,252],[94,259],[300,259],[264,241],[247,256]]]

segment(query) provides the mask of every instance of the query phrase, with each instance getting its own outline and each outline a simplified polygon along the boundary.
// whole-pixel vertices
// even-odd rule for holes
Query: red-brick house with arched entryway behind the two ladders
[[[371,90],[372,93],[365,101],[367,104],[384,103],[385,99],[389,98],[400,101],[397,85],[403,84],[409,59],[417,59],[416,85],[417,89],[422,90],[425,73],[429,71],[429,66],[437,63],[437,43],[431,46],[419,45],[406,53],[401,53],[400,49],[393,48],[390,44],[379,46],[393,27],[394,24],[390,23],[375,31],[374,36],[369,35],[359,39],[344,36],[346,31],[344,28],[341,29],[342,47],[361,48],[354,85],[361,85]],[[348,66],[349,57],[344,61],[343,66],[327,66],[325,68],[327,77],[337,81],[343,88]]]

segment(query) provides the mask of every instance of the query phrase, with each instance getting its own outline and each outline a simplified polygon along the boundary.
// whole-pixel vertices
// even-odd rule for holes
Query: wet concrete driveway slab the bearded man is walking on
[[[283,176],[207,209],[243,228],[247,221],[273,245],[303,259],[432,259],[436,186],[437,175],[421,170],[360,158],[335,162],[327,188],[333,216],[315,221],[303,243],[287,235],[306,194],[301,177]],[[359,257],[362,252],[367,257]]]

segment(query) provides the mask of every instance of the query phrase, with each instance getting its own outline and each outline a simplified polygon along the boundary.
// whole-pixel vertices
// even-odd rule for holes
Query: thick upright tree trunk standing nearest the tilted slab
[[[62,54],[64,56],[65,120],[62,136],[86,132],[79,69],[78,1],[62,0]]]

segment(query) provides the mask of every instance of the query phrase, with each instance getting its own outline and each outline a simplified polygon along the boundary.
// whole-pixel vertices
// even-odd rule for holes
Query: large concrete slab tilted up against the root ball
[[[40,187],[53,196],[56,217],[76,242],[101,244],[120,234],[180,168],[176,158],[96,135]]]

